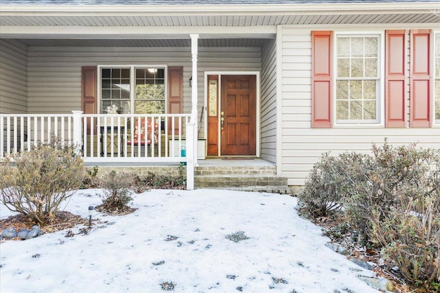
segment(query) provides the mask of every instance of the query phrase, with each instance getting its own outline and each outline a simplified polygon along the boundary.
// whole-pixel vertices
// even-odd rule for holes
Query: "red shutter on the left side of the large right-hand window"
[[[311,127],[331,128],[333,32],[311,32]]]

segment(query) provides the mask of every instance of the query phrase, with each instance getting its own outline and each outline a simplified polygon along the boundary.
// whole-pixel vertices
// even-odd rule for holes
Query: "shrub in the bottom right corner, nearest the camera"
[[[440,283],[439,195],[417,199],[407,196],[402,195],[397,207],[385,217],[373,215],[373,235],[408,282],[427,292],[437,292]]]

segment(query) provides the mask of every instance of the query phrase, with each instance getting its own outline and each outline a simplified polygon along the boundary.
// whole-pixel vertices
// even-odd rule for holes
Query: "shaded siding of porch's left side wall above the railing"
[[[0,39],[0,113],[26,113],[26,46]]]

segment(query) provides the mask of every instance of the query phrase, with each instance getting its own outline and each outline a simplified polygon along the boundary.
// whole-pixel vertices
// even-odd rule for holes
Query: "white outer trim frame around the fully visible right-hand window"
[[[377,97],[379,101],[379,113],[377,115],[377,122],[375,123],[363,123],[362,121],[359,123],[355,123],[354,121],[347,121],[344,123],[338,123],[336,121],[336,81],[337,81],[337,73],[338,73],[338,51],[337,51],[337,38],[338,36],[348,36],[348,35],[378,35],[380,41],[380,52],[378,54],[379,60],[379,96]],[[385,126],[385,33],[384,31],[380,32],[334,32],[333,34],[333,127],[384,127]]]

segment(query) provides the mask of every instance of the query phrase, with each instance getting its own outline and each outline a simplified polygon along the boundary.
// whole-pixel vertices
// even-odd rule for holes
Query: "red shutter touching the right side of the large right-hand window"
[[[408,91],[406,91],[405,30],[387,30],[385,41],[385,126],[405,127]]]

